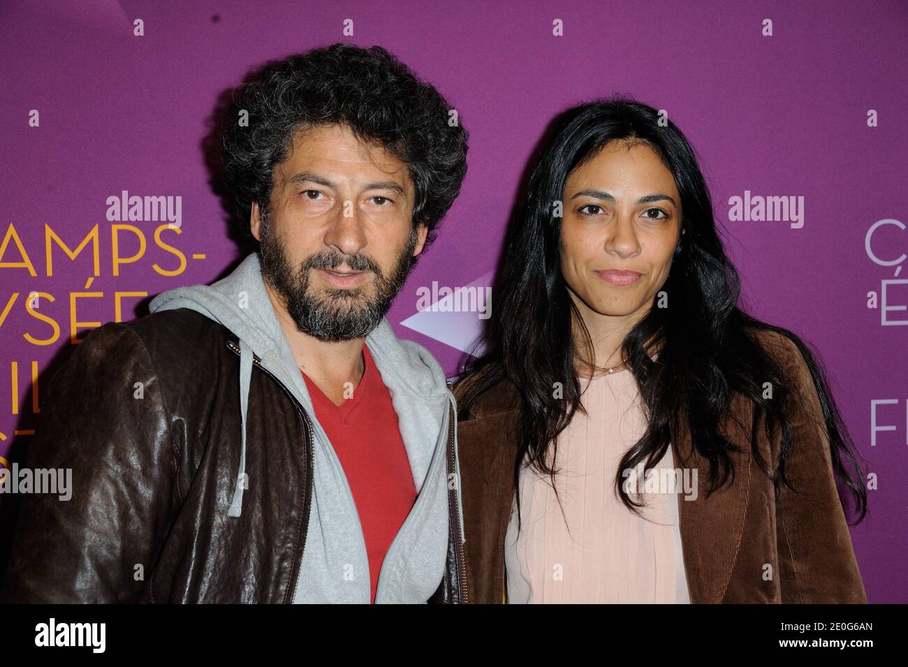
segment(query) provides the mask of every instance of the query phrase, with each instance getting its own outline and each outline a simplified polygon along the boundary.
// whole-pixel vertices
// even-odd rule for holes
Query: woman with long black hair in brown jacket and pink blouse
[[[738,293],[673,123],[557,119],[455,387],[469,602],[866,602],[854,446],[811,350]]]

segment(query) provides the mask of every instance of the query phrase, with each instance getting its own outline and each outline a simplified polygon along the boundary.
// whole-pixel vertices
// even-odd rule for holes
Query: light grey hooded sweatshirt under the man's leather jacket
[[[243,486],[261,483],[250,480],[244,472],[246,448],[256,446],[246,441],[254,354],[299,401],[315,434],[311,514],[294,602],[369,603],[370,564],[350,485],[315,416],[306,383],[265,291],[258,255],[253,252],[230,275],[211,286],[171,289],[151,303],[152,312],[180,308],[196,310],[220,322],[239,338],[242,460],[237,461],[233,502],[229,509],[224,508],[224,520],[242,514]],[[456,404],[435,358],[419,344],[397,338],[387,319],[366,337],[366,344],[390,392],[419,494],[380,565],[375,602],[424,603],[441,582],[448,549],[446,449],[449,405],[457,414]],[[459,467],[456,470],[459,479]],[[462,516],[458,518],[463,525]]]

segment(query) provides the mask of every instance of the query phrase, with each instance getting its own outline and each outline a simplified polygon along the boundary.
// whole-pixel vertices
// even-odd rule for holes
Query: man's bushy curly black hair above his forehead
[[[249,113],[242,126],[242,112]],[[232,92],[219,139],[224,186],[244,240],[252,202],[267,211],[271,173],[301,129],[341,123],[378,142],[410,170],[413,225],[429,228],[426,246],[457,198],[467,172],[468,132],[449,123],[451,106],[380,46],[333,44],[266,64]]]

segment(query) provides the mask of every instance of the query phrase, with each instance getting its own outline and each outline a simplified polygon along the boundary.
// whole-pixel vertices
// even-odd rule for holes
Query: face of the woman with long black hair
[[[645,143],[609,142],[571,172],[561,224],[561,272],[588,320],[642,319],[671,268],[680,233],[675,179]]]

